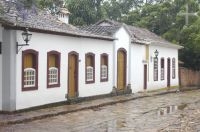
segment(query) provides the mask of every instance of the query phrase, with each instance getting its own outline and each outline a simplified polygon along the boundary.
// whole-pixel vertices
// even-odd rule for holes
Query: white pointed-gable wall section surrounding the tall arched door
[[[129,38],[129,34],[127,33],[127,31],[124,29],[124,27],[121,27],[114,35],[115,38],[117,38],[117,40],[115,40],[115,45],[114,45],[114,74],[113,74],[113,78],[114,78],[114,86],[117,86],[117,51],[120,48],[124,48],[126,50],[127,53],[127,65],[126,65],[126,84],[128,85],[130,82],[129,79],[129,74],[130,74],[130,70],[129,70],[129,57],[130,57],[130,52],[129,52],[129,46],[130,46],[130,38]]]

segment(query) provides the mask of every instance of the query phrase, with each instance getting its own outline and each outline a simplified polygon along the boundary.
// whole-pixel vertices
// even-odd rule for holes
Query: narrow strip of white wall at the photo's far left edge
[[[0,42],[2,42],[2,30],[0,25]],[[0,110],[2,110],[2,54],[0,54]]]

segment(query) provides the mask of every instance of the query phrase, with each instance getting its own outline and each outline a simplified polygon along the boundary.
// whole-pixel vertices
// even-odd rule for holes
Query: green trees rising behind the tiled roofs
[[[28,1],[31,3],[31,0]],[[69,20],[73,25],[89,25],[103,18],[110,18],[147,28],[170,42],[184,46],[180,52],[180,60],[184,62],[185,67],[200,69],[200,0],[64,0],[64,2],[65,7],[71,12]],[[189,16],[188,25],[185,16],[181,15],[186,11],[186,3],[189,12],[198,12],[198,16]],[[40,8],[51,10],[52,13],[63,5],[62,0],[37,0],[36,4]]]

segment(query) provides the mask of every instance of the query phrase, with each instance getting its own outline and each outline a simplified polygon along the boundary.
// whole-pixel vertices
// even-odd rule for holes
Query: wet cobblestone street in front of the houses
[[[28,123],[1,132],[198,132],[200,90],[131,100]]]

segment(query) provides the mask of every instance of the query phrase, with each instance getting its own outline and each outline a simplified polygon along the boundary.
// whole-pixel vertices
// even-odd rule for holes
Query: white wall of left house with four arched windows
[[[68,53],[76,51],[79,53],[79,97],[107,94],[112,91],[113,67],[113,42],[97,39],[75,38],[67,36],[58,36],[42,33],[34,33],[30,41],[30,46],[23,47],[22,50],[34,49],[39,52],[38,58],[38,90],[22,91],[21,86],[21,66],[22,50],[17,55],[17,109],[28,108],[48,103],[60,102],[66,100],[67,77],[68,77]],[[18,31],[18,42],[24,43],[21,38],[21,31]],[[59,88],[47,89],[46,86],[46,68],[47,52],[56,50],[61,53],[61,74]],[[85,84],[85,54],[93,52],[95,54],[95,83]],[[108,82],[100,82],[100,54],[109,55],[109,78]]]

